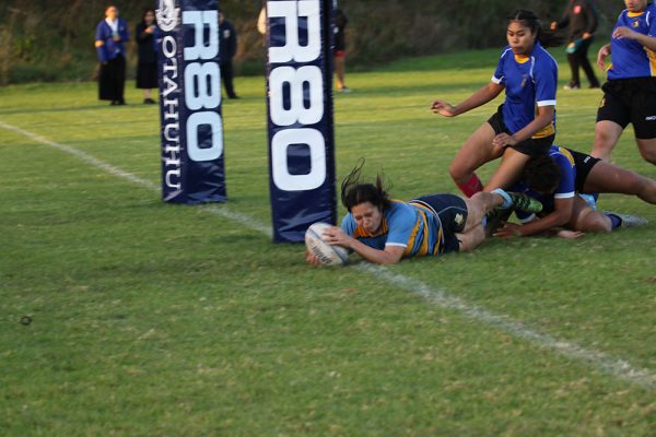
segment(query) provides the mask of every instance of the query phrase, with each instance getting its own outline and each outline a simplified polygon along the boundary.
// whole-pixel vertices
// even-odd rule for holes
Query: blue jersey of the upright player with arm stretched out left
[[[506,88],[503,119],[511,133],[515,133],[535,120],[538,106],[555,106],[558,62],[539,42],[528,57],[515,56],[506,46],[492,82]],[[536,132],[534,138],[554,133],[555,114],[552,122]]]

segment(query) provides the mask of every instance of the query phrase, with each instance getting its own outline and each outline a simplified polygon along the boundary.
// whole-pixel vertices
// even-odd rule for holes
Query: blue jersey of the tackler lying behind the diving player
[[[558,145],[551,146],[549,156],[555,162],[561,172],[560,182],[552,194],[542,194],[534,191],[524,181],[517,182],[508,189],[508,191],[526,193],[542,202],[541,214],[544,215],[553,212],[555,199],[571,199],[576,196],[576,164],[574,156],[572,156],[567,149],[559,147]],[[535,218],[535,214],[523,211],[517,211],[516,215],[523,223]]]

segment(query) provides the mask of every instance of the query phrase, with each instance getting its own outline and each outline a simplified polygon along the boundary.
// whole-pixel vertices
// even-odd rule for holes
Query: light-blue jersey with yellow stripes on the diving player
[[[393,200],[390,208],[383,210],[383,221],[375,234],[358,226],[351,213],[343,217],[341,227],[351,237],[374,249],[405,247],[403,258],[438,255],[443,250],[440,218],[421,205],[400,200]]]

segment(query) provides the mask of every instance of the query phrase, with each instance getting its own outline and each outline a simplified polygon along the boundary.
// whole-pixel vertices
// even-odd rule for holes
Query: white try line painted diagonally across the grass
[[[150,180],[140,178],[128,172],[125,172],[101,160],[97,160],[78,149],[56,143],[54,141],[39,137],[35,133],[28,132],[15,126],[7,125],[2,121],[0,121],[0,127],[15,133],[20,133],[42,144],[46,144],[62,152],[74,155],[83,162],[85,162],[86,164],[101,168],[110,175],[121,177],[133,184],[140,185],[145,188],[150,188],[153,191],[160,191],[159,185],[153,184]],[[235,221],[250,229],[260,232],[269,237],[271,236],[271,229],[268,226],[256,222],[254,218],[245,214],[233,212],[225,205],[204,205],[202,208],[211,213],[223,216],[224,218]],[[640,386],[644,389],[656,389],[656,374],[654,374],[649,369],[636,368],[624,359],[613,358],[606,353],[584,349],[575,343],[559,340],[549,334],[538,332],[534,329],[524,326],[520,322],[513,321],[507,317],[492,314],[487,309],[483,309],[473,304],[469,304],[464,299],[453,296],[449,293],[446,293],[442,290],[433,288],[421,281],[417,281],[411,277],[403,276],[401,274],[396,274],[384,267],[363,262],[355,264],[355,269],[367,273],[375,280],[384,280],[387,283],[393,283],[402,288],[403,291],[421,296],[425,300],[441,308],[457,311],[478,323],[482,323],[495,328],[500,331],[504,331],[515,338],[526,340],[528,343],[554,351],[567,358],[588,363],[608,375],[611,375],[618,379],[628,381],[630,383]]]

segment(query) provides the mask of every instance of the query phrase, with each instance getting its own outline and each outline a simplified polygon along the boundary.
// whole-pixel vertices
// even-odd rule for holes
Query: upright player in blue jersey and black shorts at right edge
[[[624,0],[610,44],[599,49],[597,64],[606,69],[612,56],[604,98],[597,110],[595,146],[590,153],[609,160],[630,122],[642,157],[656,164],[656,7],[647,0]]]

